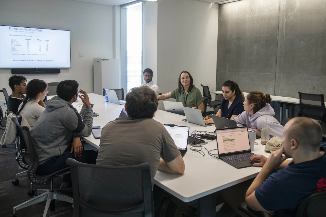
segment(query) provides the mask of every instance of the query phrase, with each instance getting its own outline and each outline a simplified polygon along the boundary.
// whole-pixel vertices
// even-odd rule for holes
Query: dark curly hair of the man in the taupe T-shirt
[[[158,101],[154,90],[148,86],[131,88],[126,95],[127,114],[135,119],[153,118]]]

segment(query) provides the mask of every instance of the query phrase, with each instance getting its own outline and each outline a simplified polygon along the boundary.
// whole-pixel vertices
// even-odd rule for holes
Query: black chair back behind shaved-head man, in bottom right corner
[[[314,193],[301,201],[296,217],[324,217],[326,215],[326,191]]]

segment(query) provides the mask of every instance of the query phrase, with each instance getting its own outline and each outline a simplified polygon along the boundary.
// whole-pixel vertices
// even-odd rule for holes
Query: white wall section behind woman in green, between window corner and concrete
[[[177,87],[181,71],[191,73],[201,92],[200,84],[215,91],[218,5],[197,0],[157,4],[157,85],[161,92]]]

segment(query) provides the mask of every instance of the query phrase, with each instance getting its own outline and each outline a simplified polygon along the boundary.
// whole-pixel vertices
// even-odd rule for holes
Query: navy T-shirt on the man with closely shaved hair
[[[326,144],[321,144],[321,150]],[[276,216],[294,217],[307,196],[326,190],[326,153],[315,160],[295,164],[273,172],[255,191],[259,204]]]

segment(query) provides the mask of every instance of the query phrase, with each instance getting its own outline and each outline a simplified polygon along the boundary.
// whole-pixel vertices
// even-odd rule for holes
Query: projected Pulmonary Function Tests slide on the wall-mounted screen
[[[70,67],[70,31],[0,25],[0,68]]]

